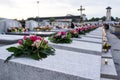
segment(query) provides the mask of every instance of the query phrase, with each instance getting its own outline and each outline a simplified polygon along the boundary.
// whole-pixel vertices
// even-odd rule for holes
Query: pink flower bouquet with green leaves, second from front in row
[[[49,37],[49,40],[53,43],[71,43],[71,34],[69,32],[61,31],[56,35]]]

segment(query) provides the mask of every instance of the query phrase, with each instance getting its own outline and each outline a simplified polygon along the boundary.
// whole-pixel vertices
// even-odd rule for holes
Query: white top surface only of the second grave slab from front
[[[48,38],[45,38],[45,39],[48,40]],[[102,51],[102,45],[101,44],[90,43],[90,42],[73,40],[72,43],[70,43],[70,44],[59,44],[59,43],[56,44],[56,43],[52,43],[48,40],[48,43],[49,44],[54,44],[54,45],[57,45],[57,46],[73,47],[73,48],[77,48],[77,49],[92,50],[92,51],[98,51],[98,52]]]

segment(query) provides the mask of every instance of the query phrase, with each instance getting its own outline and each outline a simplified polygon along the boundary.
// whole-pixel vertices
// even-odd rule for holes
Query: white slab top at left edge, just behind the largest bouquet
[[[14,40],[19,40],[19,39],[23,39],[23,36],[0,34],[0,40],[14,41]]]

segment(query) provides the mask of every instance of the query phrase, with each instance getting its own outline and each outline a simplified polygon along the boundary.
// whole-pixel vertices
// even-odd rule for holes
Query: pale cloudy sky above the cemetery
[[[111,15],[120,17],[120,0],[0,0],[0,17],[9,19],[27,19],[29,17],[80,15],[82,5],[86,17],[106,16],[106,7],[110,6]]]

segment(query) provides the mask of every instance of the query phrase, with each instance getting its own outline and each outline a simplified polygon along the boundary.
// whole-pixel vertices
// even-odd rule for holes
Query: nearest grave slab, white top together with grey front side
[[[100,80],[101,56],[56,49],[43,60],[13,58],[7,47],[0,47],[0,79],[4,80]]]

